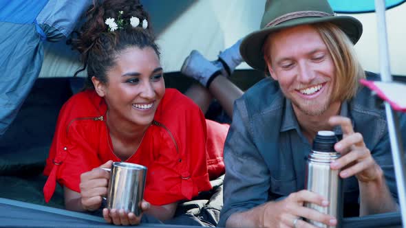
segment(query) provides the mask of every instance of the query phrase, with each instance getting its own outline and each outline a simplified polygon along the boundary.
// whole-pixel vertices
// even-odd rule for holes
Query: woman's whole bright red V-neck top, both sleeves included
[[[81,174],[113,160],[103,98],[78,93],[62,107],[47,158],[43,187],[50,201],[56,181],[80,192]],[[227,124],[204,119],[199,107],[175,89],[166,89],[154,121],[127,162],[147,166],[144,198],[153,205],[191,199],[210,190],[209,176],[224,173],[223,144]],[[209,170],[209,171],[208,171]]]

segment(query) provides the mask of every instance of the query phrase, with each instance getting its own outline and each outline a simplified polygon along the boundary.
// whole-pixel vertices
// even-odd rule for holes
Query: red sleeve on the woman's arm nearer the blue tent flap
[[[58,116],[56,131],[49,156],[43,173],[48,176],[43,187],[45,201],[50,201],[54,193],[56,181],[71,190],[80,192],[80,176],[83,172],[100,166],[97,155],[97,141],[100,129],[95,126],[96,112],[87,117],[78,117],[80,113],[81,96],[64,104]],[[89,106],[86,106],[89,109]],[[94,116],[92,116],[94,115]],[[86,130],[86,133],[85,133]]]

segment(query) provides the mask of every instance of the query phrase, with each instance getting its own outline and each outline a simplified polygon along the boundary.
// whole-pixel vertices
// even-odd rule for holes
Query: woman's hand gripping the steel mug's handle
[[[113,161],[107,161],[98,168],[81,174],[81,204],[83,209],[94,211],[99,209],[103,196],[107,195],[110,174],[101,168],[111,168]]]

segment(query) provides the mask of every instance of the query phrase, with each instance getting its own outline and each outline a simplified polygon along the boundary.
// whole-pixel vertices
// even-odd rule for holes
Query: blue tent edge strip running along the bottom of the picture
[[[70,212],[64,209],[55,209],[21,203],[6,198],[0,198],[0,227],[116,227],[106,224],[103,218],[88,214]],[[148,218],[147,216],[145,219]],[[344,218],[342,227],[401,227],[400,212],[376,214],[357,218]],[[191,225],[169,225],[162,223],[142,223],[138,227],[195,227]]]

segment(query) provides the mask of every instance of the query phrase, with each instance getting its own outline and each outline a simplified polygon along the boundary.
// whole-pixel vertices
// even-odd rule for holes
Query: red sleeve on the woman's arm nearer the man
[[[145,199],[153,205],[191,200],[199,192],[211,190],[203,113],[180,93],[162,105],[164,111],[158,113],[157,121],[167,129],[161,130],[160,157],[149,166],[145,189]]]

